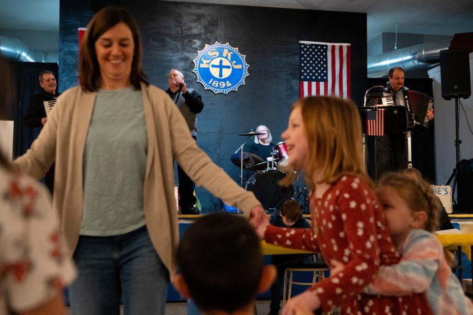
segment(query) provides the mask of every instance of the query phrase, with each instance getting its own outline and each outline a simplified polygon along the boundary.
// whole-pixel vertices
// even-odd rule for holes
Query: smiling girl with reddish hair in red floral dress
[[[363,294],[379,265],[395,264],[400,257],[365,172],[355,105],[332,97],[301,99],[292,107],[282,138],[290,164],[305,169],[312,188],[312,226],[275,227],[259,213],[252,213],[250,221],[258,224],[257,232],[267,243],[321,252],[326,261],[345,263],[342,272],[292,297],[282,314],[293,315],[301,307],[328,312],[334,306],[341,306],[343,314],[432,314],[424,294]]]

